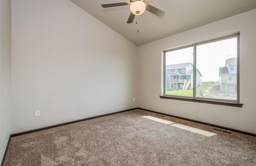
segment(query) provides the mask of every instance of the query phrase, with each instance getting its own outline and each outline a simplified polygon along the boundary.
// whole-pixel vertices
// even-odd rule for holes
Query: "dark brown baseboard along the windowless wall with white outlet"
[[[122,110],[122,111],[117,111],[117,112],[112,112],[112,113],[106,113],[106,114],[103,114],[103,115],[98,115],[98,116],[95,116],[95,117],[89,117],[89,118],[85,118],[85,119],[74,120],[74,121],[71,121],[71,122],[65,122],[65,123],[61,123],[61,124],[55,124],[55,125],[47,126],[47,127],[44,127],[44,128],[38,128],[38,129],[34,129],[34,130],[22,131],[20,133],[11,134],[11,137],[16,137],[16,136],[19,136],[19,135],[24,135],[24,134],[28,134],[28,133],[37,132],[37,131],[42,131],[42,130],[46,130],[46,129],[50,129],[50,128],[56,128],[56,127],[64,126],[64,125],[67,125],[67,124],[82,122],[82,121],[85,121],[85,120],[105,117],[105,116],[113,115],[113,114],[116,114],[116,113],[131,111],[131,110],[134,110],[134,109],[138,109],[138,108],[126,109],[126,110]]]

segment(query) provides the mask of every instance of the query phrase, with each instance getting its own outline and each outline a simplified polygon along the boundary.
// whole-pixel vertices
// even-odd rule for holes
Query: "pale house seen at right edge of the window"
[[[227,59],[225,67],[219,68],[219,80],[222,93],[237,91],[237,58]]]

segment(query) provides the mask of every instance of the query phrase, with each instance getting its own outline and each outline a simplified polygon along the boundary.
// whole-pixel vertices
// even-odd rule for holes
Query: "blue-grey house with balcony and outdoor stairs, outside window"
[[[193,64],[166,65],[165,89],[193,89]],[[197,87],[202,84],[202,74],[197,69]]]

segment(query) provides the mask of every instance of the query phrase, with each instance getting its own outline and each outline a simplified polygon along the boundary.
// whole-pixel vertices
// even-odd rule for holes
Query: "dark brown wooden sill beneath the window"
[[[190,102],[201,102],[201,103],[208,103],[208,104],[217,104],[217,105],[239,107],[239,108],[242,108],[242,106],[243,106],[243,104],[235,103],[235,102],[221,102],[221,101],[190,99],[190,98],[173,97],[173,96],[160,96],[160,98],[161,99],[172,99],[172,100],[183,100],[183,101],[190,101]]]

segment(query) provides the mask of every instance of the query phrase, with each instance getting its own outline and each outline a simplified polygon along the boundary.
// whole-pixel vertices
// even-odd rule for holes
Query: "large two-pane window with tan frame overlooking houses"
[[[179,80],[184,81],[183,88],[180,85],[182,90],[178,87],[171,91],[166,88],[169,87],[169,84],[165,78],[169,80],[169,77],[163,77],[163,87],[165,88],[163,88],[162,96],[169,97],[169,99],[178,97],[178,99],[184,100],[182,98],[185,97],[186,100],[191,98],[196,102],[210,100],[211,102],[234,103],[241,106],[242,104],[237,104],[239,103],[239,91],[237,90],[239,89],[239,80],[237,79],[239,67],[234,67],[239,66],[238,50],[239,35],[232,35],[164,51],[164,67],[175,67],[175,72],[180,69],[182,73],[186,72],[186,75],[191,77],[187,79],[186,76],[182,77],[181,75],[180,78],[184,79]],[[194,62],[196,63],[194,64]],[[228,70],[229,66],[230,70]],[[179,68],[177,69],[177,67]],[[232,77],[229,75],[231,71],[237,74]],[[164,73],[164,75],[166,74]],[[233,92],[231,96],[227,94],[230,92]],[[209,103],[211,103],[210,101]]]

